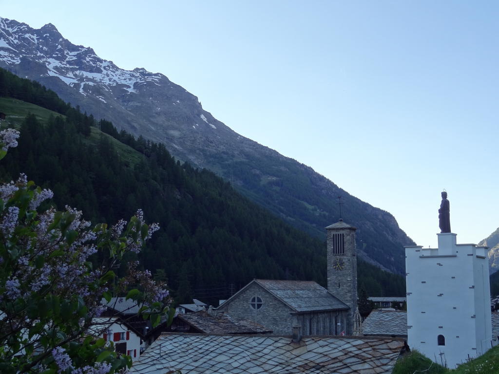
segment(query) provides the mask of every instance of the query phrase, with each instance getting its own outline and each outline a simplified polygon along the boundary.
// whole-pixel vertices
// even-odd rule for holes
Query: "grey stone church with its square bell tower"
[[[216,311],[291,335],[353,335],[357,310],[356,228],[327,226],[327,289],[313,281],[254,279]]]

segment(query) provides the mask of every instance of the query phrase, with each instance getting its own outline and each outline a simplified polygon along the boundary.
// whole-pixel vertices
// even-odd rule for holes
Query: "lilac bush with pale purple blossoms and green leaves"
[[[17,145],[18,133],[0,132],[0,159]],[[139,252],[159,227],[148,225],[141,210],[129,222],[91,227],[82,213],[66,206],[39,211],[52,197],[28,182],[0,184],[0,373],[105,374],[126,371],[131,358],[117,356],[91,327],[102,313],[102,298],[126,294],[143,305],[140,313],[157,325],[168,308],[166,285],[148,271],[128,264],[127,252]],[[102,260],[89,260],[98,253]],[[130,286],[138,285],[130,290]]]

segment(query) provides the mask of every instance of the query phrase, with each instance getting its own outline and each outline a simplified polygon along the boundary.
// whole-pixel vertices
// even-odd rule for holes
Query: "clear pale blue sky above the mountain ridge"
[[[499,226],[499,1],[0,0],[0,16],[165,74],[419,245],[443,188],[458,242]]]

